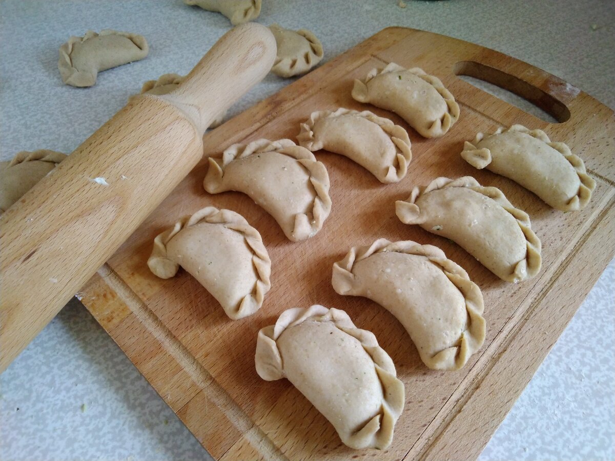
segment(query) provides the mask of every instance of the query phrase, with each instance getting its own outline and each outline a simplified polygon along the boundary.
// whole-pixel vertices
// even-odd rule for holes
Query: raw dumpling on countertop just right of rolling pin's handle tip
[[[280,77],[304,74],[317,65],[324,53],[320,40],[309,30],[288,30],[277,24],[269,26],[276,37],[277,57],[271,68]]]

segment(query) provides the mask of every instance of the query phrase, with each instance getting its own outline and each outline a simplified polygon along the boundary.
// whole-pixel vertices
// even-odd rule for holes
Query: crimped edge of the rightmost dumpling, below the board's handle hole
[[[493,135],[499,135],[507,132],[520,132],[526,135],[532,136],[537,140],[547,144],[550,148],[560,152],[560,154],[568,160],[571,167],[576,171],[579,176],[579,191],[574,197],[571,197],[568,203],[565,203],[563,207],[557,207],[560,211],[578,211],[585,208],[589,200],[592,198],[592,192],[596,188],[596,181],[585,171],[585,164],[581,157],[574,155],[570,148],[565,143],[554,143],[549,139],[547,133],[542,130],[530,130],[523,125],[511,125],[510,128],[504,129],[499,127]],[[461,157],[466,160],[472,167],[481,170],[491,163],[491,151],[487,148],[478,148],[478,143],[485,138],[484,133],[477,133],[474,141],[471,143],[466,141],[464,143],[464,149],[461,152]]]

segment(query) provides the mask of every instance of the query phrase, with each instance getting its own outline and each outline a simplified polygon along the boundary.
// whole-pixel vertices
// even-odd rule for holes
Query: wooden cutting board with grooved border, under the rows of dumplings
[[[440,77],[461,106],[443,138],[426,140],[403,120],[351,98],[352,82],[394,61]],[[548,124],[459,79],[481,77],[534,101],[560,120]],[[613,111],[533,66],[433,33],[387,28],[299,79],[204,137],[205,156],[258,138],[295,139],[312,111],[369,109],[408,128],[413,160],[398,184],[384,185],[342,156],[317,152],[331,180],[333,209],[306,242],[289,242],[247,195],[208,195],[201,162],[79,294],[157,392],[215,459],[466,459],[477,456],[557,341],[615,253]],[[597,188],[581,212],[547,207],[517,184],[470,167],[459,156],[477,131],[523,124],[568,143]],[[153,168],[156,165],[152,165]],[[502,189],[527,211],[542,240],[542,270],[518,285],[502,282],[454,243],[406,226],[394,202],[437,176],[473,175]],[[152,184],[156,187],[156,184]],[[238,321],[180,270],[161,280],[146,266],[155,235],[207,205],[229,208],[260,230],[272,260],[272,289],[263,308]],[[376,238],[415,240],[442,248],[485,297],[485,345],[456,372],[427,369],[400,323],[374,302],[339,296],[331,265],[350,246]],[[406,388],[405,410],[386,451],[352,451],[287,381],[265,382],[254,368],[256,333],[289,307],[323,304],[346,310],[376,334]]]

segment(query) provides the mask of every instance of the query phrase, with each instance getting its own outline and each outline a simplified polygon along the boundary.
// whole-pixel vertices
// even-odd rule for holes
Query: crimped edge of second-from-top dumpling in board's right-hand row
[[[517,262],[515,270],[510,276],[504,280],[506,282],[520,282],[527,278],[532,278],[538,274],[541,265],[541,242],[539,238],[534,234],[531,229],[530,216],[523,210],[515,208],[512,203],[506,198],[504,192],[500,191],[497,187],[483,187],[478,184],[478,181],[472,176],[462,176],[457,179],[450,178],[435,178],[431,183],[427,185],[421,191],[421,188],[416,186],[412,189],[410,197],[406,200],[397,200],[395,202],[395,214],[405,224],[420,224],[421,223],[421,210],[416,205],[416,200],[423,194],[428,192],[437,191],[438,189],[446,189],[448,187],[467,187],[472,191],[485,195],[494,200],[504,210],[515,218],[518,226],[520,227],[526,241],[526,254],[525,259]]]

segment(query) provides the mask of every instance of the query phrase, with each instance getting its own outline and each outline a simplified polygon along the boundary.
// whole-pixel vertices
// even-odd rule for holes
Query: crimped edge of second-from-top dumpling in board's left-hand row
[[[392,143],[395,145],[395,151],[397,151],[396,158],[398,166],[395,167],[395,165],[389,165],[389,169],[387,174],[384,176],[384,179],[386,179],[387,183],[397,183],[397,181],[403,179],[408,172],[408,164],[412,160],[412,150],[408,132],[403,129],[403,127],[395,125],[391,120],[384,117],[379,117],[370,111],[359,112],[346,108],[338,108],[336,111],[312,112],[309,119],[301,124],[300,133],[297,135],[297,140],[299,141],[300,146],[312,152],[322,149],[322,143],[317,143],[314,138],[315,123],[320,119],[335,118],[344,115],[363,117],[364,119],[378,125],[384,133],[389,135],[389,138],[391,138]],[[336,153],[343,154],[342,152]],[[381,182],[385,181],[381,180]]]

